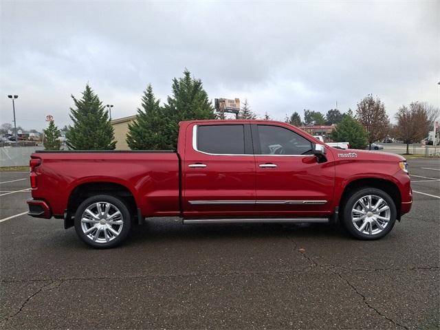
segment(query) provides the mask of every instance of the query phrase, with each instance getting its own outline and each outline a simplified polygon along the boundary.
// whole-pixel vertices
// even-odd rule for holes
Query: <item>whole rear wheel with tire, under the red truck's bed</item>
[[[75,213],[76,234],[94,248],[113,248],[131,230],[131,215],[124,201],[109,195],[89,197]]]

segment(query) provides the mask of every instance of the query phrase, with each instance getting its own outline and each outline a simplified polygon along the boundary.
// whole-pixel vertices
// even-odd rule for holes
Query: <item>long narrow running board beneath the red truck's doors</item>
[[[248,219],[182,219],[184,224],[190,223],[327,223],[328,218],[248,218]]]

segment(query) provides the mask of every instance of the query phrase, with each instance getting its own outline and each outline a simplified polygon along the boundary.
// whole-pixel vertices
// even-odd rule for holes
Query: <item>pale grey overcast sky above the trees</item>
[[[1,1],[0,123],[69,124],[87,82],[112,117],[187,67],[210,98],[283,120],[379,96],[439,102],[440,1]]]

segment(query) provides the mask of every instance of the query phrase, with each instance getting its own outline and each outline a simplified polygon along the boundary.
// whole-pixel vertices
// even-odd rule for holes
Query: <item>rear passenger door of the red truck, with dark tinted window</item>
[[[186,141],[182,162],[184,217],[240,217],[254,211],[250,125],[193,124],[188,126]]]

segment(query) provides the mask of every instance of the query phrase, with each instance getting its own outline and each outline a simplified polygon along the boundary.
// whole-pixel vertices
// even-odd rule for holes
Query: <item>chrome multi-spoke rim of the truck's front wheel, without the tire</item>
[[[390,219],[390,206],[384,199],[375,195],[361,197],[351,210],[351,221],[362,234],[379,234],[386,228]]]

